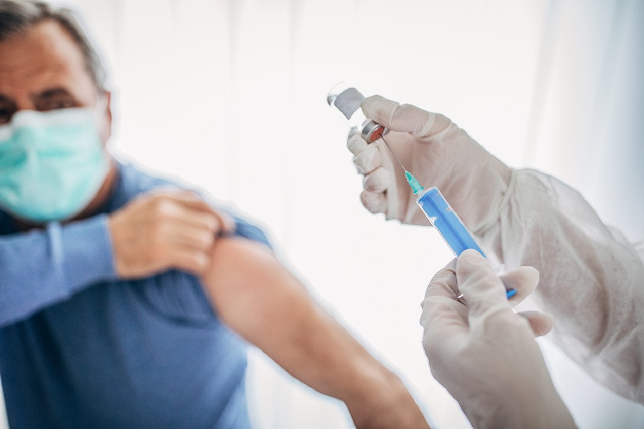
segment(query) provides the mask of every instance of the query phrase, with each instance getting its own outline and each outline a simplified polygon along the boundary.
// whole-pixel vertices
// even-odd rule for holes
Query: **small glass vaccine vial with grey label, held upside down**
[[[360,103],[365,97],[352,86],[340,83],[332,87],[327,95],[327,103],[337,110],[351,129],[359,132],[363,138],[372,143],[384,136],[389,130],[379,123],[366,118]]]

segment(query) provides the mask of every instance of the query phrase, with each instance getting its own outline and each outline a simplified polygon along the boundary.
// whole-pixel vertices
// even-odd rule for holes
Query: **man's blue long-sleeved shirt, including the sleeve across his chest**
[[[18,233],[0,212],[0,379],[12,429],[250,426],[245,344],[198,278],[115,273],[107,214],[168,184],[119,164],[90,219]],[[236,222],[236,235],[268,244]]]

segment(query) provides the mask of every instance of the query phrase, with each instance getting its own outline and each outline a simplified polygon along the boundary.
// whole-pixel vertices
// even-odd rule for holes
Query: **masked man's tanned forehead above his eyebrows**
[[[0,42],[0,94],[19,98],[56,85],[93,88],[81,48],[61,24],[47,19]]]

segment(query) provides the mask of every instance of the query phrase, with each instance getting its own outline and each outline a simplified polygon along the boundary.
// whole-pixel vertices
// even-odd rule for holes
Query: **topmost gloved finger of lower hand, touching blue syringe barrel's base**
[[[470,320],[486,318],[491,313],[507,309],[506,288],[494,273],[489,260],[478,251],[468,249],[456,262],[456,278],[460,292],[468,301]]]

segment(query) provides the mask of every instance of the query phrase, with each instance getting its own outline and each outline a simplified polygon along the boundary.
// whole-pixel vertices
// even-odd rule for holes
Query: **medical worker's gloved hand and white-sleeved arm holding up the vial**
[[[440,114],[374,96],[368,118],[404,165],[437,186],[480,244],[511,269],[542,273],[536,300],[557,320],[549,336],[606,387],[644,403],[644,262],[583,197],[541,172],[513,170]],[[386,147],[348,140],[365,174],[363,204],[388,219],[427,224]]]

